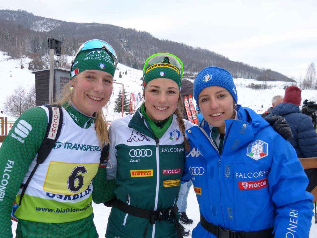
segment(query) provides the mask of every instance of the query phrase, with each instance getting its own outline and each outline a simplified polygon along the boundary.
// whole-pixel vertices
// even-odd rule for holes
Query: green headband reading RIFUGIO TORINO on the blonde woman
[[[115,67],[111,54],[104,49],[81,51],[74,59],[69,79],[89,69],[101,70],[114,76]]]

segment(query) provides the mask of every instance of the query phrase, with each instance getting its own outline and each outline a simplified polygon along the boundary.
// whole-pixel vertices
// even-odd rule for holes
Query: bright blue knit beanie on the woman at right
[[[236,85],[233,83],[230,72],[219,67],[211,66],[200,71],[194,81],[194,98],[198,109],[198,96],[204,88],[209,86],[219,86],[227,89],[235,103],[237,103]]]

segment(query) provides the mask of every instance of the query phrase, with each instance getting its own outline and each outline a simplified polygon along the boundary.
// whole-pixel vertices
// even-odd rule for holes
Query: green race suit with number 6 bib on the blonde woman
[[[98,237],[91,202],[92,193],[97,197],[100,192],[93,192],[90,181],[97,170],[104,174],[105,168],[98,169],[101,148],[94,118],[72,106],[63,113],[61,135],[36,169],[15,213],[19,218],[17,238]],[[0,148],[1,237],[12,237],[12,203],[15,198],[19,201],[19,187],[33,169],[47,126],[46,109],[29,109],[16,121]]]

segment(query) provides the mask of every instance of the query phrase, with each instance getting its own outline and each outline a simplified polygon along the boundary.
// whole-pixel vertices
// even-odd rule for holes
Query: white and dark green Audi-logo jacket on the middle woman
[[[185,127],[191,123],[184,121]],[[140,110],[112,122],[107,179],[116,178],[115,195],[122,202],[147,210],[172,208],[177,201],[184,168],[184,137],[176,116],[159,139]],[[172,219],[149,224],[148,219],[112,208],[107,238],[176,237]]]

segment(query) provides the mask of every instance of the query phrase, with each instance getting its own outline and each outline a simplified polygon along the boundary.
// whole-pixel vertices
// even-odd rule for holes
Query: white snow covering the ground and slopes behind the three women
[[[68,57],[71,59],[71,57]],[[4,101],[5,99],[11,95],[14,89],[20,84],[24,86],[26,89],[31,88],[35,85],[35,75],[31,74],[31,71],[28,68],[28,63],[30,59],[24,58],[23,65],[24,69],[19,67],[19,61],[14,60],[11,57],[4,55],[3,52],[0,52],[0,109],[3,110]],[[119,72],[121,71],[122,78],[119,78]],[[127,71],[127,75],[124,74]],[[140,92],[142,95],[142,81],[140,80],[142,76],[142,71],[137,69],[132,69],[127,67],[123,64],[118,64],[117,70],[114,75],[114,79],[117,83],[123,83],[125,91],[130,93],[138,93]],[[286,85],[285,82],[268,82],[267,84],[271,86],[270,89],[267,90],[252,90],[250,88],[246,88],[245,86],[250,83],[262,83],[252,79],[234,79],[237,93],[238,93],[238,103],[242,104],[243,106],[247,106],[257,113],[262,113],[266,109],[271,106],[271,99],[275,95],[284,95],[285,90],[283,87]],[[107,120],[109,122],[113,121],[114,119],[120,118],[122,113],[114,113],[114,101],[117,98],[119,90],[122,89],[122,85],[114,84],[113,85],[113,95],[110,99],[110,105],[108,105],[108,113],[107,113]],[[310,100],[317,100],[317,91],[316,90],[303,90],[302,91],[302,102],[308,99]],[[134,107],[137,108],[140,105],[140,102],[135,102]],[[4,113],[5,109],[4,109]],[[106,113],[106,110],[105,110]],[[3,115],[0,115],[3,116]],[[8,116],[8,115],[4,115]],[[14,121],[15,118],[8,116],[9,121]],[[10,128],[8,128],[10,129]],[[1,143],[0,143],[1,146]],[[105,207],[102,204],[94,204],[94,222],[97,227],[98,234],[100,237],[104,237],[106,227],[107,227],[107,220],[110,213],[110,208]],[[187,207],[187,215],[194,220],[194,224],[192,225],[185,225],[186,228],[193,229],[199,221],[199,208],[196,200],[196,195],[191,189],[191,192],[188,197],[188,207]],[[12,230],[15,231],[16,229],[16,222],[13,222]],[[15,237],[15,235],[14,235]],[[191,237],[191,236],[189,236]],[[314,224],[312,219],[312,228],[310,232],[309,238],[317,237],[317,224]]]

